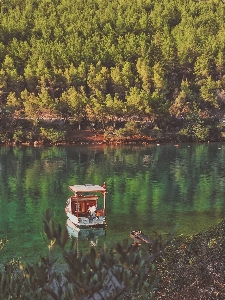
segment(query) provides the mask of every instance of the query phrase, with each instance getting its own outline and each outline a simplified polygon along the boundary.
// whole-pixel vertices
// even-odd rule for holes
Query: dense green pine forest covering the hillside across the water
[[[2,140],[16,118],[49,116],[223,137],[223,1],[1,0],[0,20]]]

